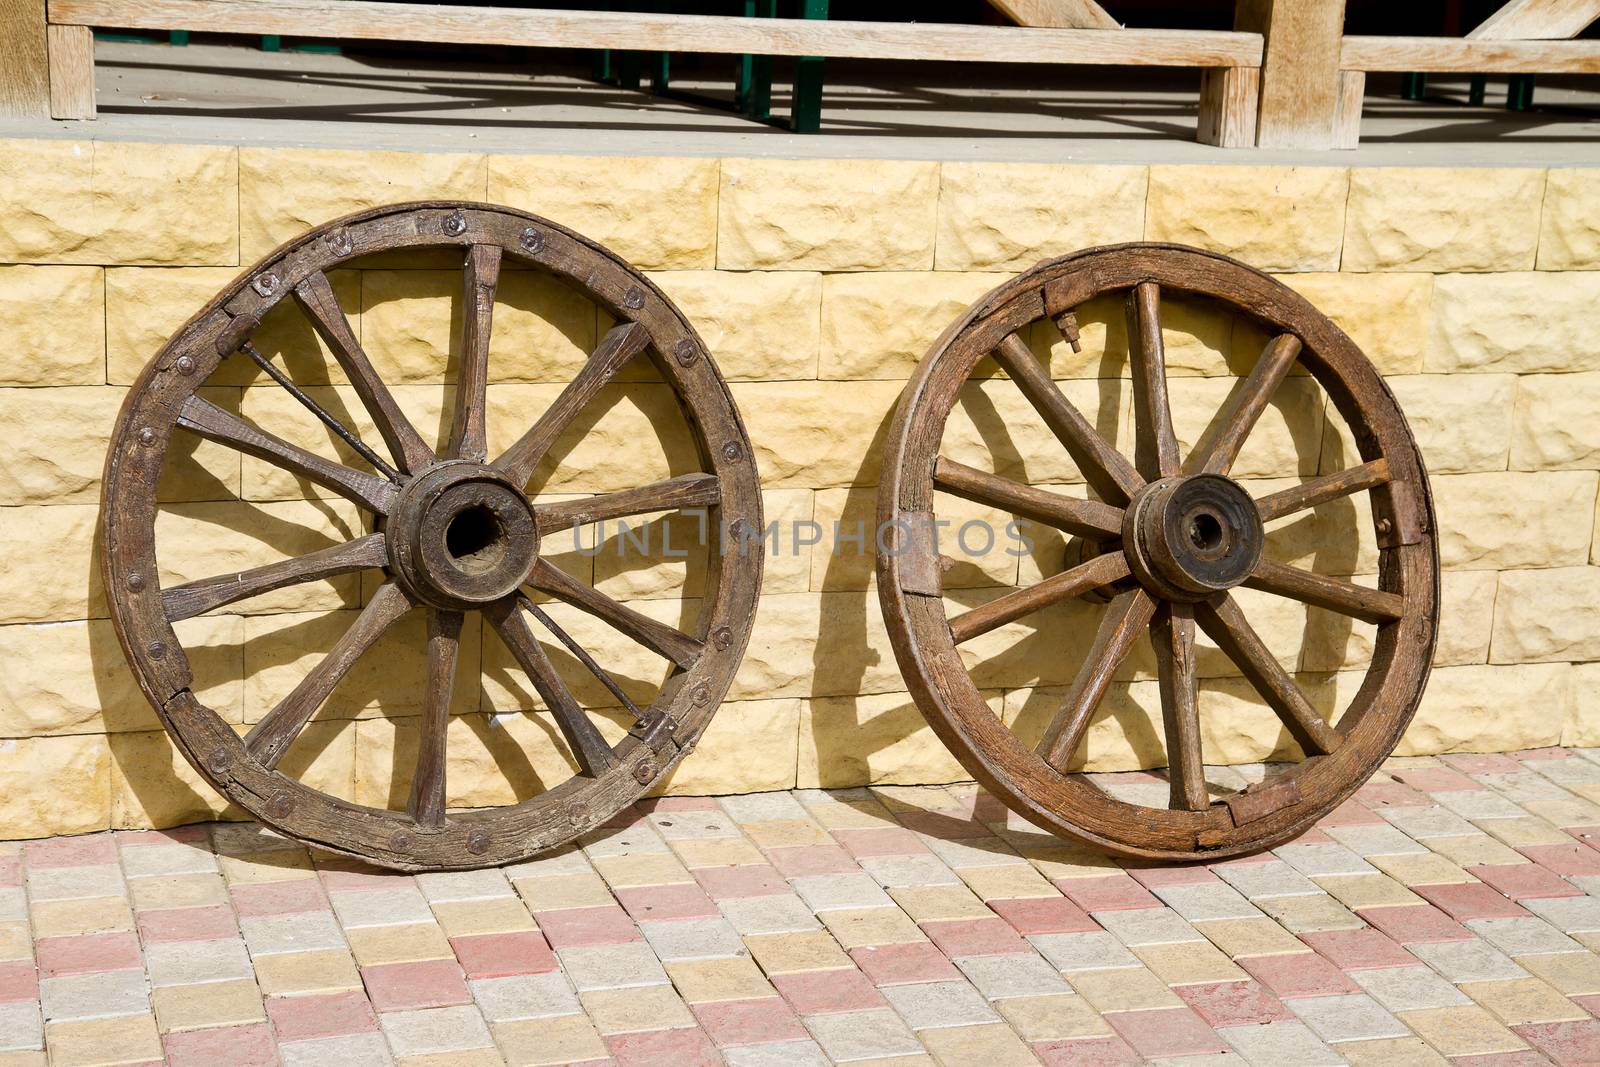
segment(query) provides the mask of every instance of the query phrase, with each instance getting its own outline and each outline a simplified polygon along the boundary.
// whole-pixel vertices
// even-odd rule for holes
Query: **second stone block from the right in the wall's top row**
[[[1344,270],[1531,270],[1544,171],[1357,166]]]

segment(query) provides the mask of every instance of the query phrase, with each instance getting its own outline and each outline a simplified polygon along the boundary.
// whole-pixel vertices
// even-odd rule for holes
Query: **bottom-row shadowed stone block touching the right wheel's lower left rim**
[[[998,717],[998,689],[984,694]],[[906,693],[806,701],[800,713],[802,789],[970,779]]]

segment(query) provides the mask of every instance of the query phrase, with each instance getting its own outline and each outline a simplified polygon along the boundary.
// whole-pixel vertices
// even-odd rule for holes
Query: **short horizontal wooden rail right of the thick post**
[[[1427,74],[1600,74],[1600,40],[1346,37],[1346,70]]]

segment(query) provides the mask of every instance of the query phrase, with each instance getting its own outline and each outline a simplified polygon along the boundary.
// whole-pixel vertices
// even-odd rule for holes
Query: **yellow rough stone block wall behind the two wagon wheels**
[[[1011,165],[866,160],[578,158],[331,152],[131,142],[0,142],[0,838],[237,816],[176,755],[133,685],[107,617],[94,530],[118,403],[166,336],[238,270],[309,226],[416,198],[507,203],[576,227],[672,296],[731,382],[784,550],[768,558],[739,675],[669,792],[944,782],[965,776],[894,664],[872,560],[834,523],[870,523],[883,430],[902,382],[974,298],[1035,259],[1125,240],[1235,254],[1326,310],[1387,376],[1421,440],[1440,520],[1443,616],[1432,686],[1402,753],[1600,744],[1600,171],[1344,166]],[[426,432],[448,422],[459,285],[408,258],[333,275],[363,344]],[[491,446],[504,446],[610,325],[592,304],[507,270],[491,350]],[[1128,443],[1120,309],[1082,312],[1085,350],[1032,342],[1064,392]],[[1192,442],[1262,338],[1168,304],[1174,421]],[[315,336],[283,306],[258,331],[322,403],[371,422]],[[208,397],[333,450],[309,416],[234,360]],[[557,448],[544,493],[586,494],[691,469],[670,392],[630,368]],[[974,381],[946,443],[994,469],[1082,491],[1077,470],[998,378]],[[342,450],[342,446],[341,446]],[[1254,491],[1347,462],[1349,438],[1310,379],[1290,379],[1240,458]],[[165,582],[253,566],[362,531],[346,501],[229,450],[186,443],[162,486]],[[958,518],[1006,517],[952,504]],[[1270,552],[1371,576],[1365,501],[1274,531]],[[816,523],[818,545],[792,531]],[[693,528],[661,520],[653,534]],[[952,608],[1059,568],[1029,528],[947,576]],[[563,569],[638,611],[688,624],[704,568],[597,555],[560,537]],[[371,595],[346,576],[184,622],[197,694],[248,729]],[[1370,632],[1259,593],[1242,601],[1330,715],[1360,683]],[[603,624],[552,614],[630,691],[659,665]],[[1043,729],[1096,624],[1074,603],[963,653],[1021,734]],[[363,803],[405,797],[416,752],[421,621],[397,625],[285,760]],[[626,717],[563,661],[608,736]],[[570,773],[558,733],[493,633],[472,630],[451,723],[451,801],[507,803]],[[1218,649],[1202,646],[1211,761],[1293,755]],[[1162,761],[1154,659],[1125,665],[1080,757],[1093,769]],[[530,713],[531,712],[531,713]]]

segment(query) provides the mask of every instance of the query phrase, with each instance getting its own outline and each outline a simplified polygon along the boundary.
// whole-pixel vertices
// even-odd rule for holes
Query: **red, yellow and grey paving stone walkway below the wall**
[[[1208,867],[971,785],[658,800],[418,877],[213,824],[0,845],[0,1065],[1565,1067],[1595,949],[1600,750],[1390,760]]]

